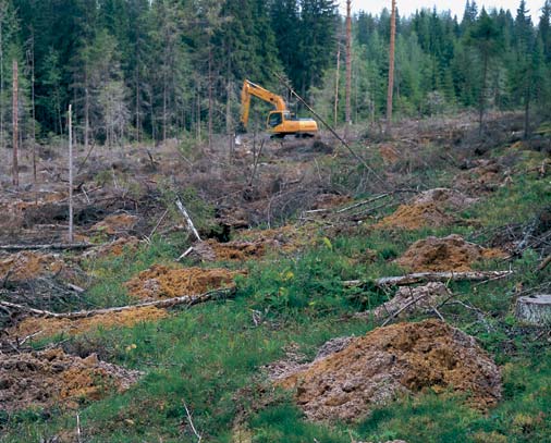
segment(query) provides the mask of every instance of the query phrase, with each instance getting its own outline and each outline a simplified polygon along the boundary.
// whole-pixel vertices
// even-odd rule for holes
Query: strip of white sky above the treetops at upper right
[[[345,12],[346,2],[344,0],[339,1],[341,4],[341,10]],[[457,15],[458,20],[463,17],[463,12],[465,10],[466,0],[396,0],[396,5],[401,15],[408,16],[412,13],[415,13],[416,10],[421,8],[430,8],[436,4],[438,11],[452,11],[452,16]],[[516,10],[521,0],[478,0],[478,10],[486,7],[487,10],[491,8],[503,8],[504,10],[511,10],[513,16],[516,14]],[[532,21],[535,23],[539,22],[539,15],[541,7],[543,5],[544,0],[527,0],[526,4],[528,10],[532,15]],[[358,12],[364,10],[366,12],[371,12],[374,14],[379,14],[383,8],[391,8],[391,0],[352,0],[352,9],[354,12]]]

